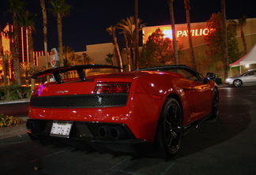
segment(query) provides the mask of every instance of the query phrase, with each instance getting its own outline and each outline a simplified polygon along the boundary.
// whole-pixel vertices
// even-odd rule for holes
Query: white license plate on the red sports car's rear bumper
[[[70,137],[70,130],[72,127],[72,122],[59,122],[54,121],[51,126],[51,133],[50,136],[58,136],[58,137]]]

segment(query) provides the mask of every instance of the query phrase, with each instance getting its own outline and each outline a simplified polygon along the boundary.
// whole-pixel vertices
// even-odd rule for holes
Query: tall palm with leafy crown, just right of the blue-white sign
[[[63,50],[62,50],[62,17],[70,15],[70,9],[72,6],[65,3],[65,0],[50,0],[51,12],[57,17],[57,30],[58,30],[58,52],[60,66],[63,66]]]

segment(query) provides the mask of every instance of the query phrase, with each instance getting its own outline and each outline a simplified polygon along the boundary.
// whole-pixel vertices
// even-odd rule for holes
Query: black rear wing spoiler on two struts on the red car
[[[38,79],[43,76],[49,76],[53,75],[55,77],[55,80],[58,84],[62,83],[62,76],[61,73],[66,73],[68,71],[76,70],[77,74],[81,81],[86,80],[84,69],[121,69],[119,67],[116,67],[114,65],[73,65],[73,66],[65,66],[65,67],[59,67],[55,69],[47,69],[45,71],[42,71],[40,73],[36,73],[33,76],[31,76],[32,79]]]

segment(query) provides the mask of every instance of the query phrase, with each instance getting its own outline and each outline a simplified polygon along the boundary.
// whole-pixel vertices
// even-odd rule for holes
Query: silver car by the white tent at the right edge
[[[225,84],[231,84],[234,87],[240,87],[243,84],[256,84],[256,69],[247,70],[240,76],[230,77],[225,80]]]

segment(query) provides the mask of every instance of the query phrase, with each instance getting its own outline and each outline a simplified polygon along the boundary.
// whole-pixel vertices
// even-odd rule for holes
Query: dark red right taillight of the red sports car
[[[99,83],[94,88],[95,94],[129,93],[130,83]]]

